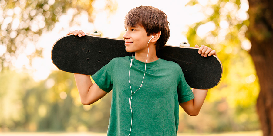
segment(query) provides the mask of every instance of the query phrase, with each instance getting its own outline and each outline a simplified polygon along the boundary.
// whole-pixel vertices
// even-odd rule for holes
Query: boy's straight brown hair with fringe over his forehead
[[[161,35],[156,42],[156,51],[163,49],[170,37],[169,22],[167,15],[158,8],[152,6],[140,6],[130,10],[124,21],[125,26],[143,26],[147,36],[161,31]]]

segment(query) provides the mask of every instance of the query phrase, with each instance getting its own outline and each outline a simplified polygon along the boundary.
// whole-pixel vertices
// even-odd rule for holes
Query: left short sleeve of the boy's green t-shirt
[[[113,89],[112,75],[115,65],[116,58],[112,59],[107,65],[91,76],[99,88],[105,92],[110,92]]]

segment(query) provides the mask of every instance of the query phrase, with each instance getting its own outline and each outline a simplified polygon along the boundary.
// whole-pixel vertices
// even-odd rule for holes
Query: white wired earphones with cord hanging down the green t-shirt
[[[147,63],[147,59],[148,59],[148,55],[149,55],[149,42],[154,38],[154,36],[152,35],[152,38],[148,41],[148,44],[147,44],[147,47],[148,47],[148,53],[147,53],[147,58],[146,58],[146,62],[145,62],[145,70],[144,70],[144,76],[143,76],[143,79],[142,79],[142,83],[143,83],[143,80],[144,80],[144,77],[145,77],[145,73],[146,73],[146,63]],[[140,87],[135,91],[135,92],[132,92],[132,87],[131,87],[131,83],[130,83],[130,70],[131,70],[131,66],[132,66],[132,63],[133,63],[133,53],[132,53],[132,59],[131,59],[131,64],[130,64],[130,69],[129,69],[129,84],[130,84],[130,89],[131,89],[131,95],[129,97],[129,105],[130,105],[130,109],[131,109],[131,113],[132,113],[132,117],[131,117],[131,128],[130,128],[130,133],[128,136],[130,136],[131,134],[131,130],[132,130],[132,120],[133,120],[133,112],[132,112],[132,107],[131,107],[131,104],[132,104],[132,97],[133,97],[133,94],[138,91],[140,89],[140,87],[142,87],[142,83],[140,85]]]

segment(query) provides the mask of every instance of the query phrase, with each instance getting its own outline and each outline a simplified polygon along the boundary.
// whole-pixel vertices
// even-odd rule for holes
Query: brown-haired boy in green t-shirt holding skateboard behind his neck
[[[125,29],[125,49],[135,56],[111,60],[92,76],[94,84],[88,75],[74,73],[81,102],[92,104],[113,90],[107,135],[177,135],[179,105],[187,114],[197,115],[208,90],[191,90],[177,63],[156,56],[170,36],[163,11],[134,8],[125,17]],[[68,34],[85,35],[81,30]],[[216,52],[202,45],[199,54]]]

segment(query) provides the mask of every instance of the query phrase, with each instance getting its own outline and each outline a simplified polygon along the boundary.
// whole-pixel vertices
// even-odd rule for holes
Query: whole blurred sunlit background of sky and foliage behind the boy
[[[244,36],[247,0],[1,0],[0,132],[106,132],[111,93],[82,105],[73,74],[53,65],[51,49],[75,29],[122,39],[124,16],[140,5],[167,14],[168,45],[208,45],[223,64],[222,80],[200,114],[190,117],[180,109],[178,132],[258,131],[259,84]]]

